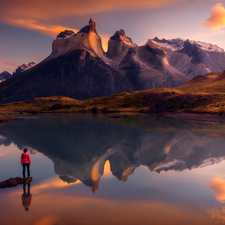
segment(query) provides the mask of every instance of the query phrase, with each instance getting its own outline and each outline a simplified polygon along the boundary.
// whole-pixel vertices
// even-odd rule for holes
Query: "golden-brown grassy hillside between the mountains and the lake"
[[[107,97],[76,100],[53,96],[0,105],[0,111],[23,113],[197,112],[225,114],[225,72],[198,76],[177,88],[121,92]]]

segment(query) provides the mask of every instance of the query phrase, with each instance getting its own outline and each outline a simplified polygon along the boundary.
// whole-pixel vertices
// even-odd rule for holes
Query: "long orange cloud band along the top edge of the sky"
[[[2,18],[60,19],[68,16],[90,15],[117,9],[156,8],[181,3],[184,0],[7,0],[1,3]]]

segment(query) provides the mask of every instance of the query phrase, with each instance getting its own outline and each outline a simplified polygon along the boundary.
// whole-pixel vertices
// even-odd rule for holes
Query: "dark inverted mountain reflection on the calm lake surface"
[[[0,143],[43,153],[60,179],[80,180],[96,192],[107,160],[122,181],[141,165],[160,173],[219,163],[225,159],[224,129],[219,122],[145,115],[60,115],[2,124]]]

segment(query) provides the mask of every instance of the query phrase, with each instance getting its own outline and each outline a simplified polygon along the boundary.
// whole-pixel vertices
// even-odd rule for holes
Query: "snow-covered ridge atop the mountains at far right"
[[[201,41],[191,41],[191,40],[184,40],[181,38],[176,38],[172,40],[166,40],[166,39],[158,39],[154,38],[151,40],[154,44],[159,46],[160,48],[167,48],[171,49],[172,51],[180,51],[182,48],[184,48],[185,41],[189,41],[191,44],[198,45],[202,50],[208,51],[208,52],[224,52],[224,50],[217,45],[212,45],[210,43],[205,43]]]

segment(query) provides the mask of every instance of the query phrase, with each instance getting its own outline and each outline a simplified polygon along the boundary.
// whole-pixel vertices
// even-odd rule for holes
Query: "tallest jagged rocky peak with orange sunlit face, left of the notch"
[[[53,41],[52,53],[46,60],[57,58],[78,49],[88,51],[91,56],[99,57],[105,61],[101,37],[97,33],[94,20],[90,19],[88,25],[76,34],[70,30],[61,32]]]

